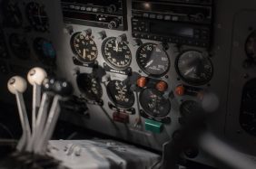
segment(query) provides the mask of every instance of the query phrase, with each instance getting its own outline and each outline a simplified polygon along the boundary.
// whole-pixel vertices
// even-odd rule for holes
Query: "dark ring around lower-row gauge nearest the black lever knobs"
[[[84,76],[84,77],[83,77],[83,76]],[[83,93],[83,96],[84,96],[85,99],[92,100],[92,101],[99,101],[99,100],[102,99],[102,97],[103,97],[103,87],[102,87],[102,85],[101,85],[101,83],[100,83],[100,80],[98,80],[97,77],[94,77],[94,78],[95,78],[95,80],[97,80],[97,83],[98,83],[98,85],[99,85],[99,87],[100,87],[100,94],[99,94],[99,96],[97,96],[96,99],[93,99],[93,98],[89,97],[88,94],[87,94],[87,92],[81,87],[80,82],[78,82],[78,79],[79,79],[79,78],[84,79],[85,77],[86,77],[87,79],[92,80],[92,77],[91,77],[91,76],[94,77],[94,75],[92,75],[92,74],[80,73],[80,74],[78,74],[78,75],[76,76],[75,82],[76,82],[76,85],[77,85],[79,91],[80,91],[81,93]],[[91,81],[90,81],[90,82],[91,82]]]

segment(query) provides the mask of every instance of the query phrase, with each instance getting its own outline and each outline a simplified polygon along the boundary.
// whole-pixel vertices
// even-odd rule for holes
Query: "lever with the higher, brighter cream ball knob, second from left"
[[[41,85],[47,77],[47,73],[42,68],[33,68],[27,73],[27,80],[33,86],[33,103],[32,103],[32,131],[34,132],[35,120],[38,108],[41,102]]]

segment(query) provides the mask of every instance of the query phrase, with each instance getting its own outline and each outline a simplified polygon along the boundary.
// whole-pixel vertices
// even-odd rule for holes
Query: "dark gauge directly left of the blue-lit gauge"
[[[9,43],[12,52],[14,52],[17,58],[22,60],[30,58],[30,49],[25,36],[13,33],[9,37]]]

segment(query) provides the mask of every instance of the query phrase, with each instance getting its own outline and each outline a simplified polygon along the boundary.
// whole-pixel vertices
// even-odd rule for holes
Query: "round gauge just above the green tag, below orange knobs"
[[[162,92],[157,89],[143,89],[140,103],[150,117],[166,117],[171,109],[170,100],[163,98]]]

